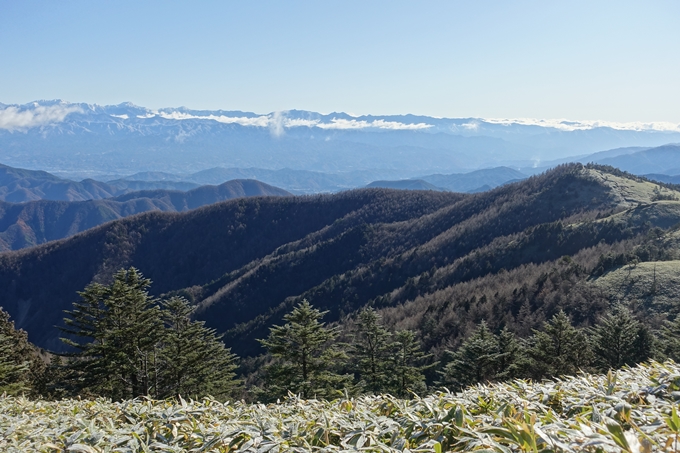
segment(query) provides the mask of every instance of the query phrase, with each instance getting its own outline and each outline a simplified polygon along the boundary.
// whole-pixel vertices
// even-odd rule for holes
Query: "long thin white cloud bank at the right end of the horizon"
[[[536,119],[536,118],[485,118],[485,122],[491,124],[501,124],[511,126],[519,124],[522,126],[541,126],[551,127],[562,131],[584,131],[598,127],[609,127],[621,131],[655,131],[655,132],[680,132],[680,124],[669,122],[629,122],[617,123],[614,121],[571,121],[566,119]],[[465,125],[463,125],[465,126]]]

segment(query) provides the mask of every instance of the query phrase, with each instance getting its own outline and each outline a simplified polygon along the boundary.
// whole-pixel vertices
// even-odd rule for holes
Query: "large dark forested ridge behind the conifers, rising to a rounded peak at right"
[[[605,307],[604,293],[569,285],[585,282],[599,255],[625,252],[680,221],[677,195],[568,165],[479,194],[243,198],[142,214],[1,254],[0,300],[32,341],[58,349],[53,326],[75,292],[134,265],[154,294],[197,304],[197,317],[239,354],[261,352],[255,339],[302,298],[330,310],[329,321],[372,305],[436,352],[481,319],[530,332],[563,306],[587,323]],[[516,320],[521,310],[528,324]]]

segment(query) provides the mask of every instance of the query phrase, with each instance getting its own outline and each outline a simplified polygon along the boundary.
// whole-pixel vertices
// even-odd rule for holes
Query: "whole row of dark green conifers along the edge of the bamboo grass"
[[[289,393],[330,399],[345,392],[409,397],[433,388],[606,371],[650,358],[680,360],[680,317],[653,332],[622,304],[589,328],[575,327],[559,311],[525,338],[507,327],[494,332],[482,321],[435,360],[417,332],[390,331],[373,308],[360,310],[342,331],[323,322],[327,311],[303,300],[259,340],[267,355],[246,386],[236,355],[215,330],[192,318],[190,303],[151,297],[150,285],[129,268],[109,285],[92,283],[79,292],[62,328],[72,352],[51,357],[49,365],[0,311],[0,393],[113,400],[211,395],[275,401]]]

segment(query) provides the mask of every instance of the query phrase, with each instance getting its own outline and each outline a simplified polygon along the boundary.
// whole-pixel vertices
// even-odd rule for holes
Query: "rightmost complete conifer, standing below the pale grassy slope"
[[[645,327],[628,308],[617,305],[592,329],[590,341],[603,369],[618,369],[647,360],[651,345]]]

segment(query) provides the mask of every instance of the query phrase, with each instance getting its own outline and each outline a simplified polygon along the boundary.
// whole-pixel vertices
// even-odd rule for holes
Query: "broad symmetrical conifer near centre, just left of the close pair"
[[[258,340],[278,359],[266,370],[271,398],[288,391],[303,398],[333,397],[350,384],[351,376],[336,371],[346,356],[332,343],[338,328],[320,322],[326,313],[303,300],[283,317],[285,325],[271,327],[269,337]]]

